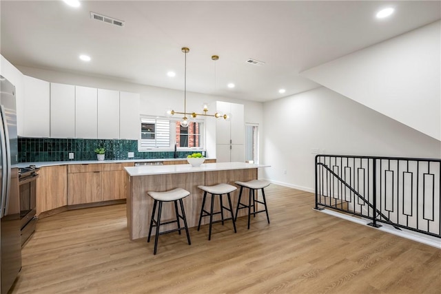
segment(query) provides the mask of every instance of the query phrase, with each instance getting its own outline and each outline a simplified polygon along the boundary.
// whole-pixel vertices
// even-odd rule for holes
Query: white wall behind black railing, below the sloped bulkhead
[[[264,178],[314,191],[314,156],[441,158],[441,142],[325,87],[264,104]],[[284,174],[286,171],[286,174]]]

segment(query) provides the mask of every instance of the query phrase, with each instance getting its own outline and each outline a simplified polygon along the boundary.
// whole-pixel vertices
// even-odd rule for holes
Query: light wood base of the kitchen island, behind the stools
[[[198,225],[199,214],[201,213],[201,205],[203,200],[203,191],[198,189],[199,185],[211,186],[220,183],[235,185],[237,180],[248,181],[257,179],[257,169],[233,169],[225,171],[203,171],[183,174],[160,174],[150,176],[129,176],[130,184],[129,197],[127,197],[127,228],[130,233],[130,240],[147,237],[150,218],[152,217],[153,200],[147,195],[147,191],[167,191],[174,188],[182,188],[190,192],[190,195],[184,198],[184,209],[187,216],[187,224],[189,227]],[[237,185],[235,185],[238,187]],[[239,188],[231,193],[233,211],[236,213]],[[226,196],[223,196],[225,207],[228,207]],[[216,200],[215,200],[216,201]],[[218,201],[215,202],[214,209],[219,210]],[[207,197],[205,208],[208,209],[211,204],[211,197]],[[226,211],[227,212],[227,211]],[[246,209],[241,209],[238,216],[245,216]],[[227,215],[228,216],[228,215]],[[220,215],[215,216],[215,220]],[[173,202],[164,203],[161,214],[161,222],[176,219],[174,213]],[[201,224],[209,222],[209,218],[204,218]],[[229,221],[231,222],[231,221]],[[181,225],[182,222],[181,222]],[[161,226],[161,231],[176,227],[176,224]],[[152,232],[154,234],[154,230]]]

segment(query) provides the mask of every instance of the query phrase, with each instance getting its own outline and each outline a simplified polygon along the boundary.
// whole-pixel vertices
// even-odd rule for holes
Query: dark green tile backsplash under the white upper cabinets
[[[174,158],[174,151],[139,152],[137,140],[95,140],[58,138],[19,138],[19,162],[96,160],[94,150],[105,148],[105,160]],[[69,159],[69,153],[74,159]],[[128,158],[128,152],[134,158]],[[192,151],[178,151],[176,158],[185,158]]]

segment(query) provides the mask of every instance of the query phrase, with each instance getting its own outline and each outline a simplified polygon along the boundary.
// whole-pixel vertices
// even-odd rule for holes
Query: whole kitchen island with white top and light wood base
[[[188,226],[196,227],[203,198],[203,191],[198,189],[199,185],[210,186],[219,183],[235,185],[234,182],[237,180],[255,180],[258,177],[258,168],[262,167],[269,166],[245,162],[217,162],[204,163],[200,167],[192,167],[189,164],[125,167],[129,181],[127,185],[127,229],[130,240],[147,237],[153,206],[153,200],[147,196],[147,191],[167,191],[174,188],[189,191],[190,195],[183,200],[185,214]],[[239,189],[231,194],[234,211],[236,211],[238,191]],[[165,204],[161,222],[176,219],[173,202]],[[208,207],[209,199],[205,205]],[[215,209],[219,208],[215,205]],[[245,209],[241,209],[239,216],[244,216],[245,213]],[[208,222],[208,219],[205,219],[201,224]],[[168,226],[173,225],[176,226],[176,224],[162,226],[161,231],[170,229]]]

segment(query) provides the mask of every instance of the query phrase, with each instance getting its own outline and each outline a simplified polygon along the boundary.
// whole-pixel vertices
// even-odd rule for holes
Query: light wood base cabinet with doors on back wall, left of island
[[[87,204],[127,198],[124,167],[133,163],[70,165],[68,167],[68,204]]]

